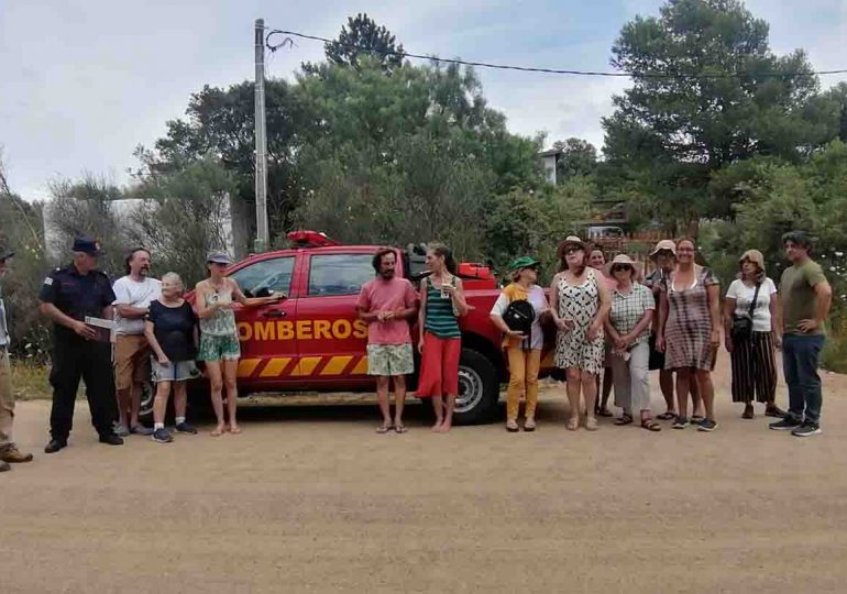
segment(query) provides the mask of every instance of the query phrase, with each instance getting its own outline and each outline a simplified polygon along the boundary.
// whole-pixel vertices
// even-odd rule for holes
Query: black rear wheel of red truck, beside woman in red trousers
[[[497,416],[498,404],[499,378],[494,364],[477,351],[462,349],[453,421],[457,425],[492,422]]]

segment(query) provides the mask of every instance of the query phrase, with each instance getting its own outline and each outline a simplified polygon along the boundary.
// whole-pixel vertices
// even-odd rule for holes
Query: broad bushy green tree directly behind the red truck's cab
[[[510,134],[472,70],[406,66],[391,77],[323,64],[300,78],[304,224],[345,241],[440,239],[485,249],[486,205],[541,184],[538,139]],[[338,100],[343,97],[344,100]]]

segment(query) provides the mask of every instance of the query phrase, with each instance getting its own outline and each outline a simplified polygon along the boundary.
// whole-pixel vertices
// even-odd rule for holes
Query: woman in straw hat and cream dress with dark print
[[[568,429],[580,426],[580,389],[585,399],[585,429],[595,431],[597,418],[597,375],[603,372],[605,343],[603,322],[609,297],[597,271],[587,266],[585,244],[568,237],[559,245],[562,272],[550,285],[550,311],[559,331],[556,337],[556,366],[565,370],[571,418]]]

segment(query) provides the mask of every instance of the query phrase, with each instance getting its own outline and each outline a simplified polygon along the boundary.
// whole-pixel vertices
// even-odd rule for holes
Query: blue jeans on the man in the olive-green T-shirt
[[[789,385],[789,417],[800,422],[821,422],[821,350],[826,338],[823,334],[783,334],[782,371]]]

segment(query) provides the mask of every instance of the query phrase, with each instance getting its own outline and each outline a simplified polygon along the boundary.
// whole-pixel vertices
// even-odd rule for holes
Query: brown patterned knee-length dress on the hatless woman
[[[712,317],[708,312],[707,287],[717,285],[708,268],[700,268],[692,286],[674,288],[676,274],[671,274],[668,294],[668,321],[664,324],[664,369],[694,367],[711,371],[715,366],[715,350],[710,346]]]

